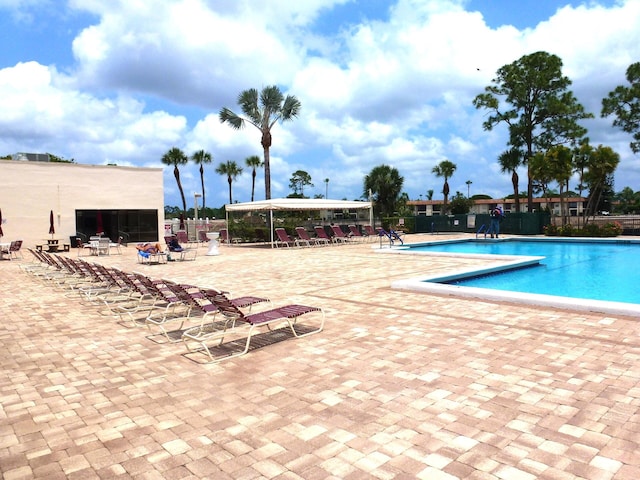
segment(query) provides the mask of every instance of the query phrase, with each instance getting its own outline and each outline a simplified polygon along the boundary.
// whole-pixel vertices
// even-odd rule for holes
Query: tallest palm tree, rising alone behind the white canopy
[[[233,113],[227,107],[220,110],[220,121],[228,123],[236,130],[249,122],[262,133],[260,143],[264,150],[264,188],[265,198],[271,199],[271,163],[269,148],[271,147],[271,128],[278,122],[293,120],[300,112],[301,103],[293,95],[285,98],[275,86],[264,87],[258,98],[258,90],[251,88],[238,95],[238,105],[245,117]]]

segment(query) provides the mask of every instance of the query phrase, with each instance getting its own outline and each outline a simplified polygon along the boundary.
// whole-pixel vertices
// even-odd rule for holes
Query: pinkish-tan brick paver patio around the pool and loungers
[[[324,331],[201,364],[22,272],[27,252],[0,264],[3,479],[640,478],[637,318],[390,288],[484,260],[220,250],[90,259],[318,305]]]

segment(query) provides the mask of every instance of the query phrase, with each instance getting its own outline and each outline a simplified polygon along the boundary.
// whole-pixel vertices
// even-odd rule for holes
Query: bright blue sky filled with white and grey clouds
[[[324,194],[329,178],[330,198],[360,198],[364,176],[387,164],[410,198],[441,198],[431,169],[444,159],[457,165],[453,193],[471,180],[471,194],[501,197],[511,193],[496,161],[506,129],[485,132],[471,102],[502,65],[543,50],[595,114],[591,143],[621,155],[616,190],[640,190],[630,136],[599,117],[640,61],[639,25],[637,0],[0,0],[0,155],[160,167],[171,147],[205,149],[207,206],[220,206],[228,189],[215,167],[262,150],[255,128],[232,130],[218,112],[239,111],[244,89],[277,84],[302,111],[273,130],[273,197],[305,170],[305,194]],[[191,205],[197,166],[181,177]],[[250,200],[247,169],[233,191]],[[181,203],[169,168],[165,203]]]

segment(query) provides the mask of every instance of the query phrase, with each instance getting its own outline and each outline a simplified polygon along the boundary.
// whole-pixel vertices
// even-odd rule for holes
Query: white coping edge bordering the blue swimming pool
[[[598,239],[574,239],[565,237],[539,238],[536,241],[591,241],[597,242]],[[460,239],[440,240],[434,242],[424,242],[421,244],[438,244],[438,243],[454,243]],[[611,242],[612,239],[603,239],[601,241]],[[619,243],[638,243],[636,240],[622,240]],[[555,307],[577,311],[599,312],[614,315],[626,315],[630,317],[640,318],[640,305],[624,302],[609,302],[605,300],[589,300],[584,298],[562,297],[556,295],[544,295],[538,293],[510,292],[506,290],[493,290],[489,288],[465,287],[461,285],[446,285],[442,281],[456,280],[474,275],[484,275],[488,273],[499,272],[503,270],[511,270],[514,268],[525,267],[538,263],[544,257],[527,257],[513,255],[490,255],[490,254],[462,254],[450,252],[411,252],[407,246],[394,246],[391,248],[382,248],[378,250],[380,253],[399,254],[399,255],[425,255],[425,256],[449,256],[457,258],[476,258],[487,260],[503,260],[504,263],[492,267],[471,267],[454,270],[445,275],[428,275],[422,277],[413,277],[404,280],[397,280],[391,284],[394,290],[409,290],[415,292],[429,293],[435,295],[451,295],[466,298],[477,298],[490,301],[502,301],[511,303],[521,303],[527,305],[540,305],[547,307]]]

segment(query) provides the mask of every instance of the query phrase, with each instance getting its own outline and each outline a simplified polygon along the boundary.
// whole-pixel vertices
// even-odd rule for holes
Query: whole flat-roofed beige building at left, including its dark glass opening
[[[48,157],[48,156],[47,156]],[[23,247],[102,230],[114,242],[157,241],[164,234],[162,168],[0,160],[2,242]],[[55,233],[49,234],[53,213]]]

